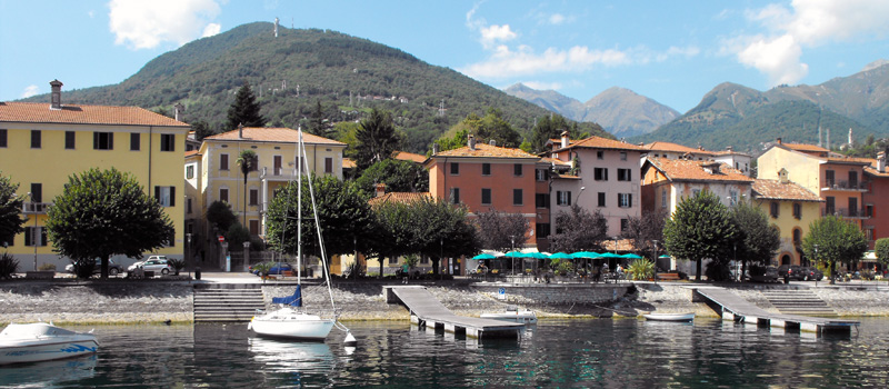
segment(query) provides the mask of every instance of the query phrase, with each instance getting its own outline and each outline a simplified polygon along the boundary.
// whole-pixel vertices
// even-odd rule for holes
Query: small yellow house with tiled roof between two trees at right
[[[771,263],[811,266],[802,253],[802,237],[809,225],[821,217],[823,200],[809,189],[793,183],[781,169],[779,179],[753,181],[753,205],[760,207],[781,233],[781,246]]]

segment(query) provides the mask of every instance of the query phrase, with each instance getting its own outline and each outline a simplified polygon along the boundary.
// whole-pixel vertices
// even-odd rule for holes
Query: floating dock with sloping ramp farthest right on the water
[[[799,315],[772,313],[738,297],[731,291],[718,288],[696,288],[695,292],[721,307],[722,320],[740,321],[746,325],[782,327],[800,331],[821,333],[826,331],[850,332],[860,322],[832,318],[818,318]]]

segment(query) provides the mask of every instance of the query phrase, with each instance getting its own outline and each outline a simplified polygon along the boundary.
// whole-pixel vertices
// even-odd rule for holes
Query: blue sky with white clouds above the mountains
[[[722,82],[818,84],[889,58],[889,1],[0,0],[0,101],[114,84],[237,26],[319,28],[491,87],[585,102],[621,87],[680,112]]]

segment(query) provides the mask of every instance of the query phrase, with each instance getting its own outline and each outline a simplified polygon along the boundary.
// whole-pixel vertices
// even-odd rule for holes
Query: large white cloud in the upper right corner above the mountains
[[[796,83],[808,74],[808,64],[801,62],[807,48],[889,34],[886,0],[793,0],[790,7],[769,4],[748,11],[747,18],[760,23],[769,36],[727,39],[722,52],[768,74],[776,86]]]

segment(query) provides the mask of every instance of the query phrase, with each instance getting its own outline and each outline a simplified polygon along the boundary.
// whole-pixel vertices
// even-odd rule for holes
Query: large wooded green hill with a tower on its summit
[[[256,22],[196,40],[146,63],[121,83],[64,91],[72,103],[140,106],[170,112],[186,106],[186,121],[219,131],[234,92],[253,87],[270,126],[296,127],[322,106],[333,122],[361,119],[371,108],[393,112],[407,133],[407,151],[426,152],[451,126],[475,112],[498,109],[530,138],[535,118],[549,111],[470,79],[431,66],[401,50],[320,29],[287,29]],[[64,81],[64,80],[62,80]],[[27,101],[48,101],[47,94]],[[582,131],[603,134],[597,124]]]

